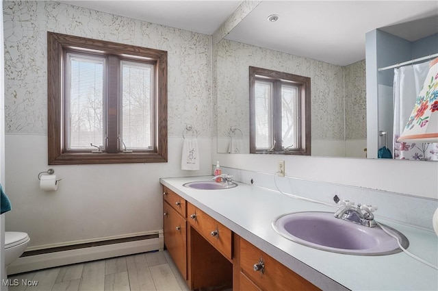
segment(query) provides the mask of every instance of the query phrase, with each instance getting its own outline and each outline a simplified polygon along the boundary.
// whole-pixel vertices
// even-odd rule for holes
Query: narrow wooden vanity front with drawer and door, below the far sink
[[[164,244],[173,262],[187,280],[187,220],[186,202],[163,186]]]

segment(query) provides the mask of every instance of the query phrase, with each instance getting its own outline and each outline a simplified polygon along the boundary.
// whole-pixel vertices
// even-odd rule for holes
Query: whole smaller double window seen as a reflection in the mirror
[[[249,67],[250,153],[310,155],[310,78]]]

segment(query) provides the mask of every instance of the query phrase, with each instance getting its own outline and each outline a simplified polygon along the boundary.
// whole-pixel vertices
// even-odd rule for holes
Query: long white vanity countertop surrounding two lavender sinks
[[[405,253],[359,256],[320,251],[283,238],[271,226],[281,214],[334,212],[333,207],[241,183],[227,190],[183,186],[211,178],[164,178],[160,182],[322,290],[438,290],[438,271]],[[376,220],[407,236],[408,251],[431,264],[438,264],[438,237],[433,231]]]

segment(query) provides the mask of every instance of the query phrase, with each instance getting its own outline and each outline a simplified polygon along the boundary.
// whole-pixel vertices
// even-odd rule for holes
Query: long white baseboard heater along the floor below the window
[[[163,232],[159,231],[157,238],[101,244],[79,249],[45,252],[18,257],[18,259],[8,267],[7,273],[8,275],[13,275],[44,268],[102,260],[109,257],[119,257],[121,255],[133,255],[148,251],[163,251],[163,248]]]

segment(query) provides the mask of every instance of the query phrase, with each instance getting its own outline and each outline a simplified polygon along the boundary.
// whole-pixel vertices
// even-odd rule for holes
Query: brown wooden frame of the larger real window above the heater
[[[148,49],[125,45],[105,40],[94,40],[79,36],[69,36],[48,31],[47,33],[48,62],[47,62],[47,120],[48,120],[48,158],[49,165],[55,164],[118,164],[118,163],[152,163],[167,162],[167,51]],[[155,72],[155,145],[153,151],[134,151],[123,153],[117,151],[117,144],[108,144],[109,152],[91,153],[83,151],[66,151],[64,149],[64,79],[62,62],[64,53],[70,49],[79,47],[94,51],[103,51],[110,55],[131,55],[139,58],[153,60],[156,64]],[[114,60],[108,59],[108,66],[114,66]],[[118,62],[118,61],[116,61]],[[118,66],[118,64],[116,64]],[[118,76],[114,76],[118,79]],[[111,76],[109,76],[111,79]],[[114,88],[117,87],[117,88]],[[118,94],[118,82],[110,90]],[[108,94],[112,94],[108,92]],[[114,99],[108,99],[109,101]],[[111,108],[117,104],[108,104],[108,114],[113,114]],[[117,134],[118,123],[107,126],[108,134]],[[114,143],[114,139],[113,139]]]

